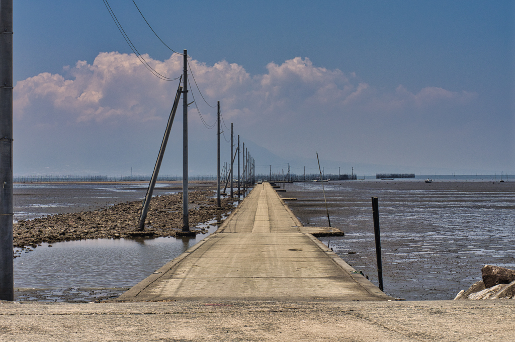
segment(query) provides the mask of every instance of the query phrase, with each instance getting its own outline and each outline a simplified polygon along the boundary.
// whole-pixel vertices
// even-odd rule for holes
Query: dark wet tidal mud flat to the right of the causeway
[[[384,291],[408,300],[453,299],[485,264],[515,267],[515,182],[336,181],[324,184],[331,225],[320,238],[377,285],[371,197],[379,199]],[[327,226],[320,183],[286,184],[305,226]]]

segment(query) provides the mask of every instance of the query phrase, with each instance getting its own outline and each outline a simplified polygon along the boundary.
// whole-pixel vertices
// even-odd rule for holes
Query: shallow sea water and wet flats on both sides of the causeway
[[[487,263],[515,268],[515,193],[462,189],[461,184],[500,185],[501,175],[419,175],[392,180],[358,176],[357,181],[324,183],[333,226],[342,238],[321,238],[336,254],[377,285],[370,196],[380,197],[385,292],[408,300],[452,299],[474,281]],[[426,187],[425,179],[432,179]],[[506,185],[515,176],[503,175]],[[513,183],[512,183],[513,182]],[[423,185],[424,184],[424,185]],[[457,191],[451,185],[460,185]],[[126,201],[141,201],[146,184],[15,184],[15,220],[78,212]],[[327,226],[320,183],[285,185],[283,196],[304,225]],[[159,183],[155,195],[177,193]],[[379,195],[378,195],[379,194]],[[42,243],[14,259],[14,286],[131,287],[216,231],[195,238],[100,239]]]

